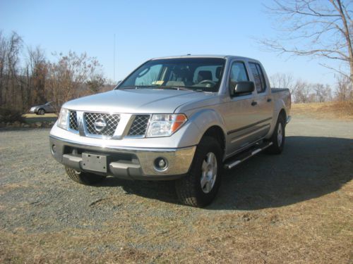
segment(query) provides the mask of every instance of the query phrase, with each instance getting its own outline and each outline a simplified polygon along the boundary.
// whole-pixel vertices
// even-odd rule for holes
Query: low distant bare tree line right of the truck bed
[[[312,103],[326,101],[352,101],[353,88],[349,77],[337,77],[335,87],[329,84],[310,83],[301,79],[294,80],[293,75],[276,73],[270,76],[272,87],[289,88],[294,103]]]

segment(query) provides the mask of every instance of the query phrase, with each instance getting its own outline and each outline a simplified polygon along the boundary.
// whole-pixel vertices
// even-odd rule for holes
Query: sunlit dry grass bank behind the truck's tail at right
[[[353,119],[353,101],[327,103],[294,103],[292,114],[307,115],[313,118]]]

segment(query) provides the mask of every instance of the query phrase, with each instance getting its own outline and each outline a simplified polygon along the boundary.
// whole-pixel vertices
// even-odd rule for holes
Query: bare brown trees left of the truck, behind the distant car
[[[39,46],[25,46],[16,32],[0,32],[0,107],[25,113],[54,101],[59,111],[65,101],[112,88],[96,58],[73,51],[53,55],[49,61]]]

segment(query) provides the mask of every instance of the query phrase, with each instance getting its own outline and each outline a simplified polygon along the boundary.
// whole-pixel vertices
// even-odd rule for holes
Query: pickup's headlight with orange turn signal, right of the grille
[[[187,120],[184,114],[152,115],[146,137],[168,137],[179,130]]]

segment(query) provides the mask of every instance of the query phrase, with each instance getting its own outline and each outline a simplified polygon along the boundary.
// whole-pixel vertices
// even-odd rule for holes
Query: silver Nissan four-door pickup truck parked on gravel
[[[282,152],[290,106],[251,58],[153,58],[114,90],[64,103],[50,150],[76,182],[175,180],[181,203],[202,207],[222,170]]]

